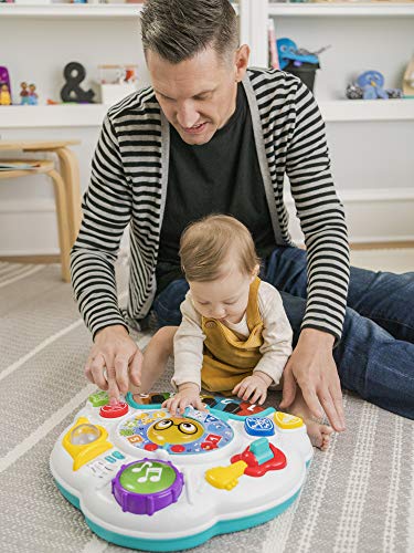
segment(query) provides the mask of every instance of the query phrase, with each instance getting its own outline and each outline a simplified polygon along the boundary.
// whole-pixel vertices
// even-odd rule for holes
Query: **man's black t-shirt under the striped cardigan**
[[[170,125],[170,165],[157,264],[157,291],[182,276],[179,247],[184,228],[210,213],[232,215],[251,231],[257,253],[275,248],[258,165],[252,117],[242,84],[236,109],[201,146],[185,144]]]

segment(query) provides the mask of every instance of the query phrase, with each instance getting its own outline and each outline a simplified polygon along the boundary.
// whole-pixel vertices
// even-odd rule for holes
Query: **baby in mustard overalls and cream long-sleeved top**
[[[250,231],[233,217],[209,216],[183,232],[180,258],[190,286],[182,322],[152,337],[139,392],[150,390],[173,353],[177,394],[163,404],[171,413],[183,414],[189,405],[204,410],[201,388],[262,405],[267,389],[280,383],[293,332],[280,294],[257,276]],[[307,413],[301,394],[293,413]],[[326,449],[332,430],[305,421],[314,445]]]

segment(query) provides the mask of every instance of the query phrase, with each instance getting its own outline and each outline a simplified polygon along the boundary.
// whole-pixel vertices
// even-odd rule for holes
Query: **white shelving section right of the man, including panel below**
[[[386,88],[402,86],[414,54],[414,3],[268,2],[267,9],[277,38],[310,51],[331,45],[320,55],[314,93],[351,239],[413,240],[414,98],[351,101],[346,88],[367,70],[380,71]]]

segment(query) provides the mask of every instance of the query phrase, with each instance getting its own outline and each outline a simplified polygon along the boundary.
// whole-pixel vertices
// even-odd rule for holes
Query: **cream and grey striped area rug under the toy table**
[[[125,302],[127,268],[118,267]],[[150,335],[134,334],[141,347]],[[57,491],[49,457],[95,389],[91,336],[57,265],[0,263],[0,551],[114,553]],[[157,390],[169,390],[167,374]],[[276,398],[272,397],[270,401]],[[344,394],[348,430],[316,451],[299,499],[277,519],[199,553],[414,551],[414,424]]]

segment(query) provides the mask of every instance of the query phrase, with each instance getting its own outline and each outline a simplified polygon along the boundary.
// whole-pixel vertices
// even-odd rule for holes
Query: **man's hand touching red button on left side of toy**
[[[98,331],[85,365],[88,380],[107,389],[109,403],[119,401],[128,392],[129,382],[140,385],[142,353],[123,325]]]

